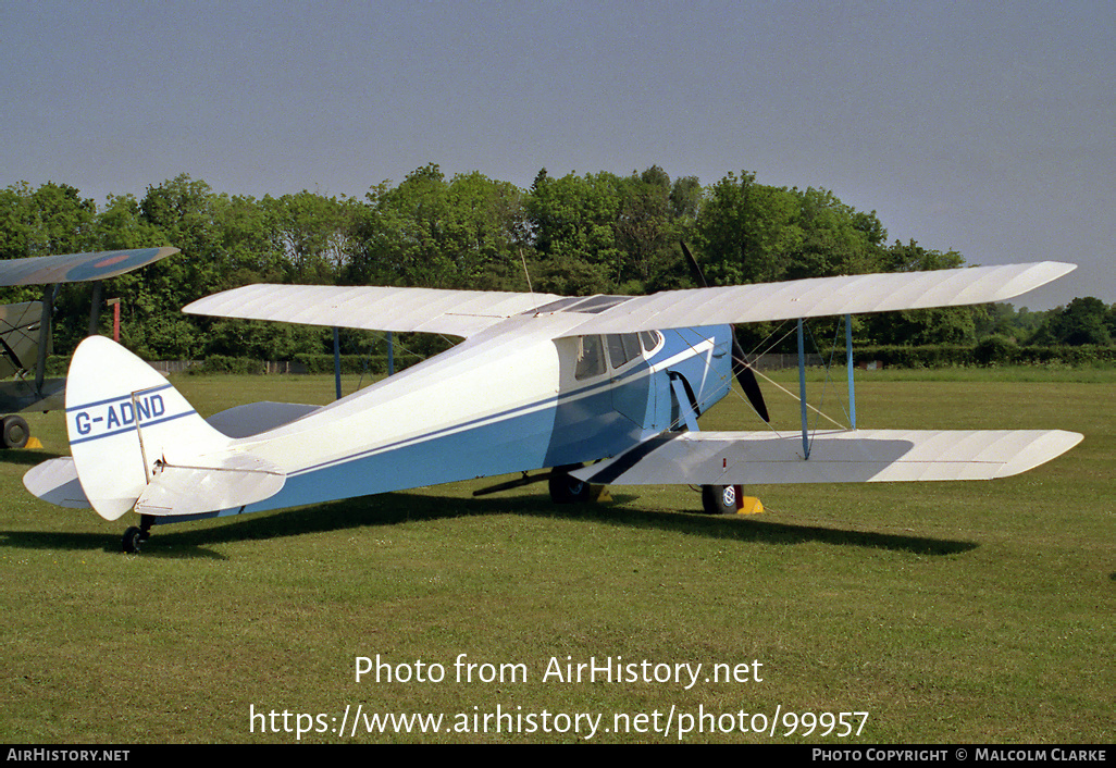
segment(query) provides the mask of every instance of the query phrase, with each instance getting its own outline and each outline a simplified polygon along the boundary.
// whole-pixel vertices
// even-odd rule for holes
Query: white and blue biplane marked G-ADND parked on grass
[[[708,511],[725,512],[753,483],[1007,477],[1081,435],[808,433],[805,405],[801,434],[701,432],[698,416],[728,394],[733,373],[753,388],[731,324],[997,301],[1071,269],[1048,261],[644,297],[246,286],[184,311],[464,342],[329,405],[256,403],[206,421],[143,361],[89,337],[66,390],[71,457],[23,482],[107,520],[134,510],[141,525],[124,549],[136,551],[156,524],[532,470],[549,470],[541,477],[556,501],[584,498],[589,483],[689,483],[705,488]]]

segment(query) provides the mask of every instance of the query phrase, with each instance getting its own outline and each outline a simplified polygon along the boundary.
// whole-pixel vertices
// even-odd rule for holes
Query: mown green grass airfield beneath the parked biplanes
[[[329,377],[174,381],[203,414],[333,395]],[[689,716],[691,742],[1110,743],[1114,383],[1110,371],[863,374],[862,428],[1085,433],[990,483],[760,487],[763,515],[713,519],[689,488],[558,508],[545,486],[474,499],[477,481],[156,528],[140,556],[119,551],[132,516],[105,522],[23,490],[28,467],[67,452],[60,414],[35,415],[46,449],[0,462],[0,741],[294,742],[298,726],[310,742],[577,741],[587,713],[603,716],[591,738],[605,742],[677,741]],[[792,430],[797,404],[764,388]],[[735,396],[702,422],[757,424]],[[377,654],[414,676],[356,681],[356,657]],[[458,682],[460,654],[492,665],[474,678],[519,666]],[[552,657],[617,656],[652,675],[703,666],[689,690],[689,676],[545,679]],[[444,680],[414,679],[420,661]],[[748,664],[748,680],[715,681],[714,664]],[[362,721],[350,736],[358,705],[442,713],[442,732]],[[475,732],[498,707],[510,717]],[[809,717],[785,737],[786,713],[804,712],[868,716],[843,739],[805,735]],[[756,714],[768,732],[741,732],[763,724]],[[509,733],[517,722],[533,732]]]

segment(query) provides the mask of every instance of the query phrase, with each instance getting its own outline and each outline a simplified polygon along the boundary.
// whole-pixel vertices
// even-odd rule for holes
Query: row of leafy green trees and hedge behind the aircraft
[[[66,184],[0,191],[3,259],[181,249],[106,287],[106,298],[121,299],[122,340],[150,359],[292,359],[330,351],[327,329],[180,311],[250,282],[644,294],[693,287],[682,241],[711,285],[964,265],[955,251],[913,240],[888,243],[875,211],[858,211],[822,189],[764,185],[751,173],[729,173],[705,186],[695,176],[672,180],[657,165],[628,176],[556,177],[543,169],[522,190],[475,172],[448,180],[431,164],[398,184],[373,186],[363,200],[308,191],[230,196],[186,175],[148,188],[142,200],[109,195],[100,208]],[[38,287],[0,296],[40,297]],[[64,287],[56,353],[68,354],[85,335],[89,300],[89,286]],[[741,330],[751,348],[775,326]],[[829,328],[821,323],[816,332],[820,338]],[[991,336],[1007,344],[1110,345],[1116,307],[1086,298],[1048,313],[1011,305],[889,313],[858,317],[854,332],[857,345],[973,345]],[[376,336],[345,332],[343,338],[346,352],[360,353]],[[420,353],[444,346],[439,339],[406,343]]]

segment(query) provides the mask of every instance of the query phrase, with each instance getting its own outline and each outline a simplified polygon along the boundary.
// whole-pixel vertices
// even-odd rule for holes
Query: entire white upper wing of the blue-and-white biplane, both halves
[[[581,336],[1000,301],[1074,269],[1074,265],[1042,261],[580,299],[435,288],[254,285],[208,296],[183,311],[468,337],[535,309],[539,318],[561,316],[556,336]],[[571,323],[573,318],[577,319]]]

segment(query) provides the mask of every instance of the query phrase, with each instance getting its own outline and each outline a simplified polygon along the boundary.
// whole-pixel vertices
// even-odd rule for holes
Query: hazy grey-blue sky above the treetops
[[[652,164],[876,210],[1116,301],[1112,2],[0,0],[0,186],[180,173],[363,196],[437,163],[528,186]]]

